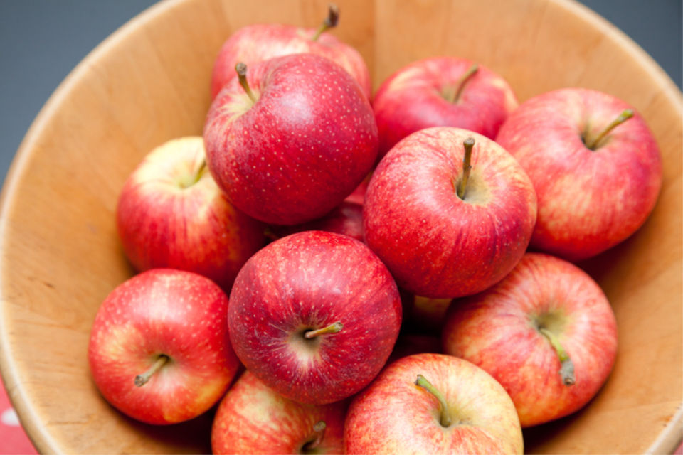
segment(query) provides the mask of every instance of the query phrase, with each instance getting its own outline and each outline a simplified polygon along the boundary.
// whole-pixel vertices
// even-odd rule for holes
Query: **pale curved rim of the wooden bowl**
[[[4,250],[2,248],[2,243],[4,243],[4,233],[9,223],[7,213],[9,212],[9,207],[11,206],[11,200],[13,200],[13,196],[21,183],[21,176],[26,173],[28,161],[35,146],[34,144],[36,144],[38,138],[41,137],[48,119],[51,119],[55,112],[58,111],[73,87],[78,85],[80,81],[83,80],[83,77],[85,77],[87,74],[88,68],[92,66],[93,63],[102,58],[106,58],[107,53],[112,48],[115,48],[121,41],[125,41],[127,36],[129,36],[129,34],[136,30],[139,26],[143,26],[145,23],[153,21],[157,16],[166,14],[167,11],[174,9],[180,4],[190,1],[197,0],[159,1],[156,4],[149,6],[147,9],[144,9],[144,11],[140,12],[136,16],[130,18],[129,21],[120,26],[120,28],[117,28],[117,30],[110,34],[110,36],[107,36],[107,38],[96,45],[95,48],[90,50],[90,52],[85,55],[83,60],[80,60],[78,65],[76,65],[75,68],[73,68],[62,80],[62,82],[60,82],[50,97],[48,97],[48,100],[46,100],[43,107],[41,107],[38,115],[35,119],[33,119],[31,126],[28,128],[25,136],[23,137],[21,144],[16,151],[14,159],[9,166],[9,171],[6,174],[6,178],[0,192],[0,250]],[[589,9],[587,6],[578,3],[578,1],[541,1],[548,1],[549,3],[561,6],[567,11],[571,11],[584,21],[591,23],[591,25],[598,30],[609,35],[618,43],[618,45],[626,48],[626,50],[628,50],[629,53],[632,53],[637,60],[640,60],[640,63],[647,70],[647,73],[650,73],[653,79],[657,80],[657,82],[660,82],[662,87],[665,87],[663,90],[663,95],[665,95],[667,100],[672,105],[677,107],[679,117],[683,118],[682,92],[678,89],[677,85],[674,84],[669,75],[665,73],[660,65],[649,54],[647,54],[645,50],[640,47],[640,45],[635,43],[635,41],[632,41],[630,37],[610,23],[607,19],[595,13],[595,11]],[[371,5],[374,5],[374,3]],[[11,304],[11,300],[5,292],[5,287],[3,286],[0,277],[0,315],[4,314],[4,309],[8,304]],[[4,321],[4,318],[0,318],[0,321]],[[31,400],[28,400],[26,390],[22,385],[18,371],[16,370],[13,355],[9,350],[11,345],[9,343],[8,337],[9,333],[6,331],[4,324],[0,323],[0,373],[11,404],[18,414],[19,420],[25,429],[26,434],[28,435],[29,439],[31,439],[33,445],[36,446],[38,451],[41,453],[62,453],[60,446],[56,443],[55,439],[53,439],[51,434],[46,431],[45,427],[39,424],[40,419],[38,418],[35,406]],[[670,454],[677,449],[677,446],[681,444],[682,439],[683,402],[679,405],[677,412],[674,414],[672,419],[669,420],[664,429],[662,429],[660,434],[657,435],[657,438],[652,442],[652,444],[650,444],[650,447],[647,448],[645,453]]]

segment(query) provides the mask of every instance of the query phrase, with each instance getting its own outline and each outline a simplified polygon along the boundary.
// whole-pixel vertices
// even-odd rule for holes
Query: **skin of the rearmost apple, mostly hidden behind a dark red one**
[[[282,55],[312,53],[334,61],[358,82],[365,97],[372,94],[370,72],[363,57],[351,45],[330,33],[311,39],[314,28],[301,28],[278,23],[253,24],[235,31],[223,43],[211,73],[211,99],[235,78],[235,65],[248,67]]]

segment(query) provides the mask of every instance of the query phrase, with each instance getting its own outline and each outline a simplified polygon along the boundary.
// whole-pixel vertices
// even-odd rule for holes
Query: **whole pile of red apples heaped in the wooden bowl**
[[[203,137],[129,177],[117,226],[140,273],[97,313],[92,376],[149,424],[215,410],[215,453],[521,454],[522,427],[613,368],[615,316],[572,262],[645,222],[655,139],[615,97],[518,105],[462,58],[373,97],[326,33],[338,17],[236,31]]]

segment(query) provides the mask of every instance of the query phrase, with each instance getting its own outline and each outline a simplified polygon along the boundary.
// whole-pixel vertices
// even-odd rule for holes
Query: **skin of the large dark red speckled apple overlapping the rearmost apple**
[[[369,102],[346,71],[317,55],[268,60],[248,68],[247,79],[257,102],[235,79],[211,105],[208,168],[253,218],[279,225],[320,218],[374,165]]]

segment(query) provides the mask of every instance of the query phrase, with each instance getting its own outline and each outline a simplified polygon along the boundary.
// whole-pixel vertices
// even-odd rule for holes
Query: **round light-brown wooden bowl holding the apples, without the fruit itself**
[[[584,410],[525,432],[548,453],[673,451],[682,404],[682,97],[632,41],[568,0],[341,0],[333,33],[374,85],[430,55],[477,60],[520,100],[566,86],[634,105],[662,150],[664,183],[647,223],[582,265],[613,304],[620,347]],[[115,231],[129,172],[167,139],[201,134],[209,76],[240,26],[317,26],[327,0],[170,0],[107,38],[60,85],[21,144],[2,193],[1,368],[36,447],[58,453],[208,452],[211,415],[137,424],[90,379],[86,350],[102,299],[133,273]]]

